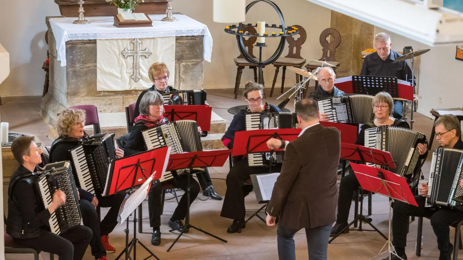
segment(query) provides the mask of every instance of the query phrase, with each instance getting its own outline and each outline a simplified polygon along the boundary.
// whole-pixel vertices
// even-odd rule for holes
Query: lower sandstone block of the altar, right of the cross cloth
[[[203,89],[204,88],[204,64],[203,62],[180,63],[180,89]]]

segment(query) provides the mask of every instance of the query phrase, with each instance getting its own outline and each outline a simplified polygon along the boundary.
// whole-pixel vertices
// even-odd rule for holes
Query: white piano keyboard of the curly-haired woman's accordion
[[[71,157],[75,168],[75,176],[79,186],[88,192],[95,195],[95,188],[92,182],[92,176],[90,174],[90,168],[88,167],[87,156],[82,145],[79,145],[75,149],[71,149]]]

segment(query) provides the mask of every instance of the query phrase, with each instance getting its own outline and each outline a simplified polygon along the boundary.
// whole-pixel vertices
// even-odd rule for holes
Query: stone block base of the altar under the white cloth
[[[42,98],[40,115],[49,125],[56,123],[56,114],[73,105],[96,105],[100,113],[124,112],[135,103],[141,90],[96,90],[96,40],[66,42],[67,66],[56,60],[56,41],[48,26],[50,53],[50,87]],[[203,36],[175,38],[175,88],[203,89]],[[146,86],[149,88],[151,86]]]

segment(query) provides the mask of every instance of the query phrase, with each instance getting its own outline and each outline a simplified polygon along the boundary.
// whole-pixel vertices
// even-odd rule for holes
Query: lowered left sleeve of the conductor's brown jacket
[[[276,179],[275,187],[273,188],[272,198],[268,206],[268,213],[272,217],[277,217],[282,209],[282,204],[285,202],[288,192],[293,186],[294,180],[300,170],[299,155],[290,142],[285,149],[285,158],[283,160],[280,176]]]

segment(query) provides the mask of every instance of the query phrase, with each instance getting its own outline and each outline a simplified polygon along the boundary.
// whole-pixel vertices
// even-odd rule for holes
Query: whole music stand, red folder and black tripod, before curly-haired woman
[[[156,179],[159,179],[161,174],[165,172],[166,161],[169,159],[170,148],[163,147],[155,150],[148,150],[136,155],[131,155],[124,158],[119,158],[111,161],[110,171],[106,179],[105,194],[106,196],[113,195],[116,192],[129,190],[127,193],[133,194],[133,189],[144,184],[151,174],[156,173]],[[157,158],[157,160],[155,159]],[[129,217],[127,217],[127,226],[125,232],[125,248],[118,255],[118,260],[125,253],[125,260],[137,259],[137,243],[140,244],[151,256],[159,260],[153,252],[150,251],[137,238],[137,209],[133,211],[133,238],[129,243]],[[133,259],[130,253],[133,249]],[[148,259],[145,258],[145,259]]]

